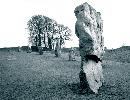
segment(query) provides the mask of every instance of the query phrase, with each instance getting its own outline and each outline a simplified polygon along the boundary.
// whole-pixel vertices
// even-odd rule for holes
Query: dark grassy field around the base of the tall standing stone
[[[130,100],[130,63],[103,60],[99,94],[80,94],[80,58],[0,51],[0,100]]]

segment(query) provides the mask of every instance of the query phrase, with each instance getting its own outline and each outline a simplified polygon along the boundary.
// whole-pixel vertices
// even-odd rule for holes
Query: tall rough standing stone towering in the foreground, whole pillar
[[[94,93],[98,93],[103,81],[101,58],[104,51],[104,38],[102,36],[103,21],[101,13],[96,12],[88,3],[79,5],[74,12],[77,18],[75,34],[79,38],[81,56],[81,87],[84,89],[87,80],[89,88]],[[86,76],[83,78],[81,75],[84,74]]]

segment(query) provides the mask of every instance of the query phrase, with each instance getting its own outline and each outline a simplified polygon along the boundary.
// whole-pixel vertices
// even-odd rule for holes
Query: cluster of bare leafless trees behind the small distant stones
[[[27,22],[27,26],[29,42],[36,47],[59,51],[65,40],[70,40],[71,30],[68,27],[43,15],[32,16]]]

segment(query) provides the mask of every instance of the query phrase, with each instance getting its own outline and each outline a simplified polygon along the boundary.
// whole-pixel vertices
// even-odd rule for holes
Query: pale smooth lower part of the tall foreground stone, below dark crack
[[[88,82],[88,85],[86,86],[89,86],[89,88],[95,94],[97,94],[98,89],[102,86],[102,82],[103,82],[101,62],[97,63],[93,60],[88,60],[87,62],[83,62],[83,71],[86,75],[86,80]],[[82,76],[83,82],[81,84],[84,84],[84,82],[86,82],[85,75]]]

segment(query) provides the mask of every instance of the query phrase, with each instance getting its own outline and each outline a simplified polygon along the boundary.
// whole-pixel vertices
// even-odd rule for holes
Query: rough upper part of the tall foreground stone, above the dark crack
[[[99,58],[103,53],[104,38],[103,21],[101,13],[84,3],[75,9],[75,16],[77,18],[75,24],[75,33],[79,38],[80,54],[96,55]]]

